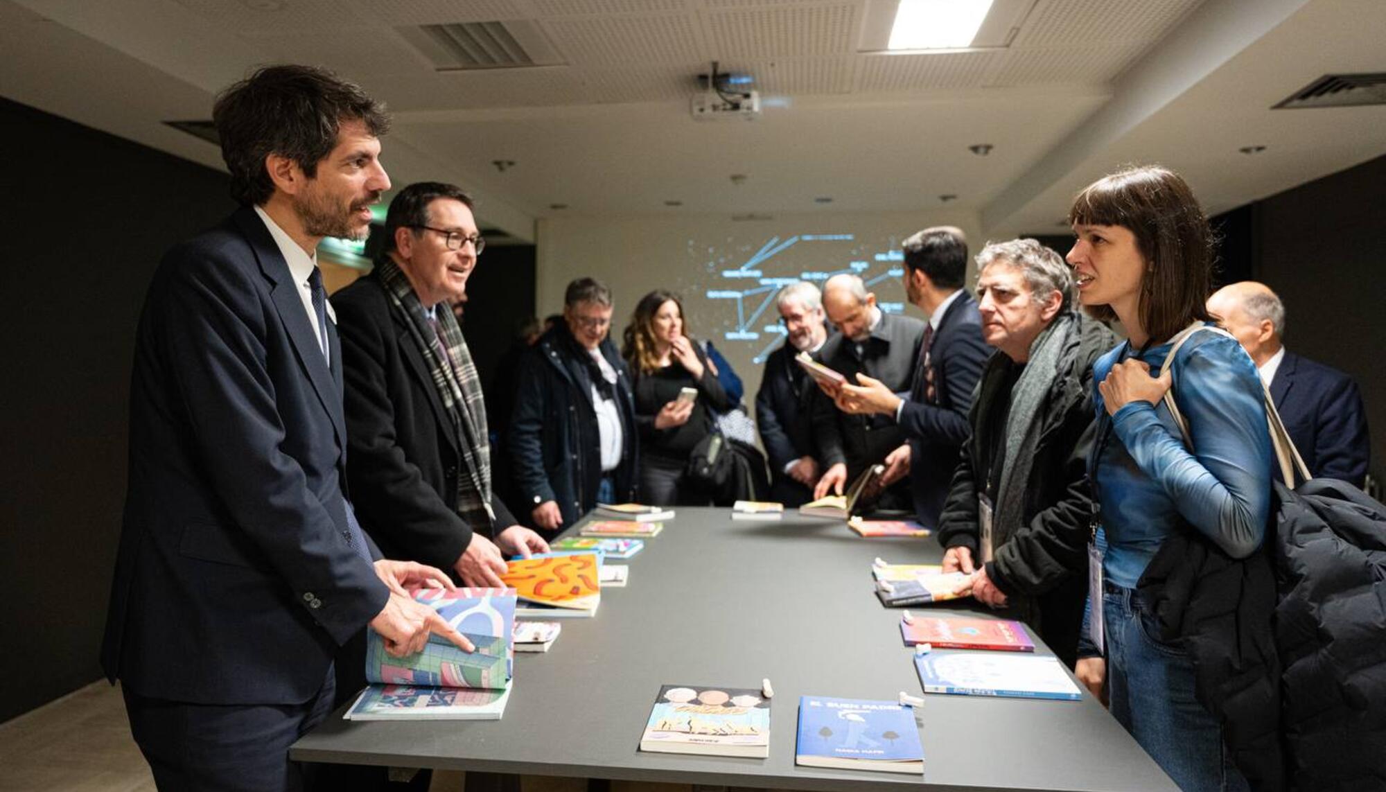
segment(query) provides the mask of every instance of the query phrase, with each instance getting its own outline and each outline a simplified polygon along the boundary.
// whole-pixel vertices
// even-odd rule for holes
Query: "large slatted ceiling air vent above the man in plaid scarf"
[[[525,19],[396,29],[439,72],[521,69],[563,64],[563,57],[549,43],[543,30]]]

